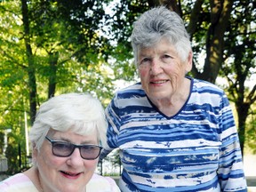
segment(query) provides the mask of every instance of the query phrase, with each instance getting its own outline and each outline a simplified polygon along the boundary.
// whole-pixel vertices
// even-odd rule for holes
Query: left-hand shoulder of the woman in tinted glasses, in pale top
[[[37,191],[29,178],[23,173],[18,173],[0,182],[0,191]]]

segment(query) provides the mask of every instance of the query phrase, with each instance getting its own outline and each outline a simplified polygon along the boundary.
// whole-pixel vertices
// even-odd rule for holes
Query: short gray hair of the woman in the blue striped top
[[[191,52],[189,35],[183,20],[176,12],[159,6],[144,12],[139,20],[134,22],[131,41],[137,67],[140,49],[152,47],[163,38],[176,48],[181,60],[188,58]]]

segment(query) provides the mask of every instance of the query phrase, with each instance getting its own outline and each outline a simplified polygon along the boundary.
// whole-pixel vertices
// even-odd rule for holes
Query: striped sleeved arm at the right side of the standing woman
[[[222,144],[217,172],[221,191],[247,191],[236,124],[225,94],[220,102],[219,126]]]

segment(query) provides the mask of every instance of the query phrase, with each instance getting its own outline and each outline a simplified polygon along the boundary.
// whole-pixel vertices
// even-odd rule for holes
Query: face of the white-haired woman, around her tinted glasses
[[[98,145],[96,132],[82,136],[74,132],[53,132],[51,140],[67,141],[74,144]],[[80,156],[79,148],[68,157],[54,156],[52,143],[44,140],[38,152],[34,149],[33,157],[39,171],[39,179],[44,191],[85,191],[85,186],[92,178],[98,159],[85,160]]]

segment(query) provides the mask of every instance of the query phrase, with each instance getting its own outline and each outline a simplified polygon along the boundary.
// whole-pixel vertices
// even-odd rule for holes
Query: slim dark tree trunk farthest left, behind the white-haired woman
[[[36,118],[36,69],[35,69],[35,64],[33,59],[32,48],[30,44],[27,0],[21,0],[21,12],[22,12],[22,21],[24,26],[24,41],[26,46],[26,55],[28,58],[28,89],[29,89],[30,123],[33,124]]]

